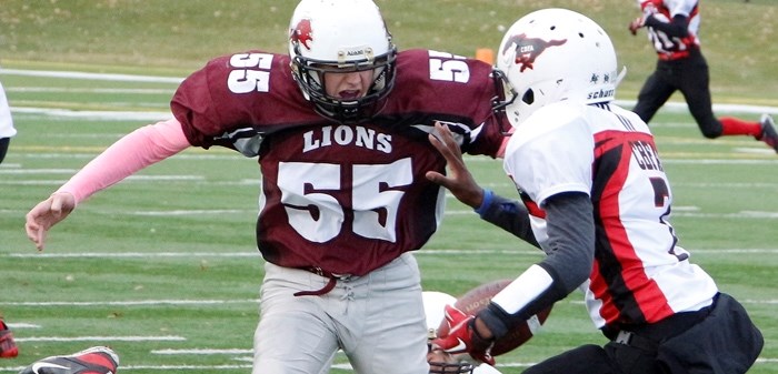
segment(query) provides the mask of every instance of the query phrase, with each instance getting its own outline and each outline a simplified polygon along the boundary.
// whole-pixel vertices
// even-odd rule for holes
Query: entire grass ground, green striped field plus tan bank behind
[[[770,53],[776,52],[775,22],[749,21],[775,19],[778,11],[771,1],[706,1],[715,101],[778,104],[771,70],[778,53]],[[390,27],[398,30],[397,39],[405,41],[401,47],[428,46],[461,54],[496,46],[500,32],[493,29],[510,24],[513,17],[506,11],[510,7],[517,8],[515,13],[545,3],[379,2]],[[631,7],[624,0],[556,4],[590,10],[615,34],[617,47],[625,46],[620,58],[631,78],[617,97],[630,100],[652,57],[642,48],[642,38],[625,36],[635,16],[634,9],[624,9],[625,2]],[[0,67],[12,70],[0,69],[0,81],[19,134],[0,164],[0,312],[11,323],[21,354],[0,361],[0,373],[97,344],[109,344],[121,354],[121,372],[250,372],[262,279],[253,239],[261,178],[256,160],[226,150],[188,150],[84,202],[54,228],[42,253],[24,236],[23,222],[30,208],[106,146],[164,118],[176,78],[211,55],[256,42],[282,50],[277,40],[282,40],[291,6],[277,3],[3,1]],[[235,9],[212,9],[219,7]],[[170,16],[158,16],[151,8],[178,14],[174,24],[166,23]],[[259,16],[249,22],[238,10]],[[714,22],[727,14],[734,16],[731,30],[759,26],[748,46],[732,42],[735,31]],[[219,39],[215,28],[240,38]],[[251,32],[239,33],[240,28]],[[483,38],[477,38],[479,33]],[[742,48],[749,53],[725,58],[726,51]],[[168,79],[62,78],[29,70]],[[758,118],[748,109],[726,114]],[[765,350],[749,373],[778,373],[778,156],[747,138],[706,140],[685,110],[662,110],[652,128],[672,182],[672,223],[680,244],[761,327]],[[468,163],[485,185],[515,195],[499,161],[468,159]],[[538,251],[479,221],[455,200],[449,202],[440,231],[417,255],[425,289],[459,295],[487,281],[515,277],[540,259]],[[498,368],[519,373],[562,350],[604,343],[581,299],[573,293],[557,303],[542,333],[498,357]],[[342,363],[339,357],[332,372],[349,373]]]

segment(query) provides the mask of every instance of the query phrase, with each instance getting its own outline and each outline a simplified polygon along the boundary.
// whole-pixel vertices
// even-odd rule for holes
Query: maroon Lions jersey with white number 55
[[[400,52],[383,110],[340,124],[313,111],[292,80],[289,57],[222,57],[187,78],[171,108],[193,145],[259,156],[257,243],[287,267],[363,275],[421,247],[443,212],[443,191],[425,173],[445,171],[427,135],[449,124],[471,154],[496,156],[487,63],[427,50]]]

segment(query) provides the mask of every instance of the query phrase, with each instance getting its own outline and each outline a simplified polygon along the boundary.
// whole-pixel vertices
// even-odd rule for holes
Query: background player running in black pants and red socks
[[[637,2],[642,14],[629,23],[629,31],[635,36],[638,29],[646,28],[659,59],[632,111],[648,123],[670,95],[680,91],[705,138],[751,135],[778,152],[778,132],[769,114],[762,114],[759,122],[714,115],[708,62],[700,50],[698,1]]]

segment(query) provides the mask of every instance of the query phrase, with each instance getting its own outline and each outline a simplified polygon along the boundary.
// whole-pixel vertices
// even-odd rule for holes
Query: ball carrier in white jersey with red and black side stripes
[[[483,219],[539,243],[547,256],[476,316],[447,309],[450,333],[433,346],[493,363],[495,340],[581,289],[592,322],[611,342],[579,346],[525,373],[745,373],[761,333],[677,245],[654,137],[638,115],[611,103],[617,63],[607,33],[569,10],[536,11],[508,30],[497,68],[515,90],[505,107],[515,132],[503,165],[525,205],[485,193],[442,127],[430,141],[450,173],[428,178]]]

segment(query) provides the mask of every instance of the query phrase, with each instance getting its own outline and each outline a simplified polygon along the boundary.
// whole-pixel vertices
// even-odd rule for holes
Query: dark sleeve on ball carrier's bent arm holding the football
[[[495,336],[527,321],[565,299],[584,283],[595,261],[595,220],[591,200],[586,193],[567,192],[553,195],[543,204],[549,242],[548,254],[538,263],[552,279],[551,284],[516,313],[508,313],[496,303],[478,314]]]

